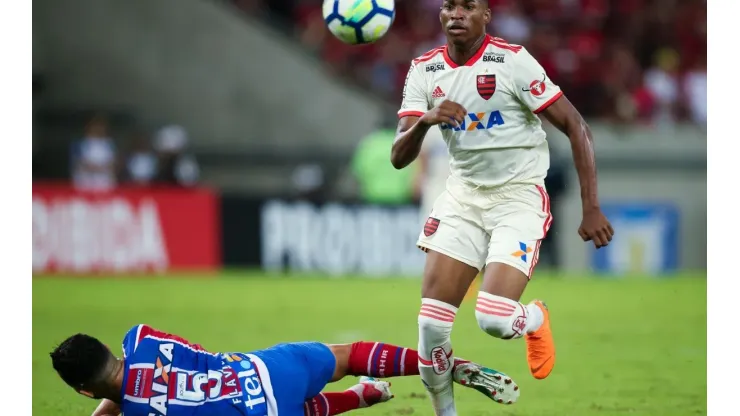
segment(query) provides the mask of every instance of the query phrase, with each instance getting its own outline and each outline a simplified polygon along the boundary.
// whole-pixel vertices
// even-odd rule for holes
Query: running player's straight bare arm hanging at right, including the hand
[[[581,184],[583,220],[578,234],[583,241],[593,241],[596,248],[609,244],[614,235],[609,220],[601,212],[596,185],[596,159],[591,129],[581,114],[565,97],[561,97],[541,113],[570,140],[573,160]]]

